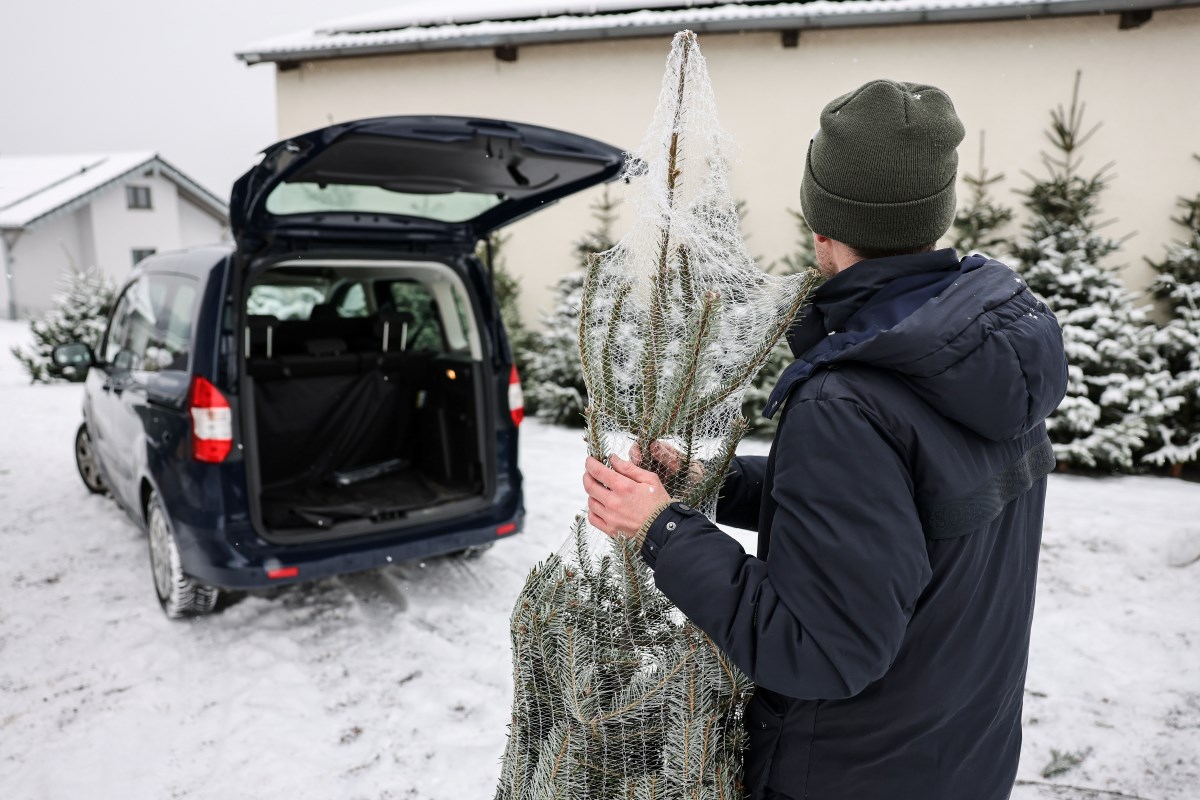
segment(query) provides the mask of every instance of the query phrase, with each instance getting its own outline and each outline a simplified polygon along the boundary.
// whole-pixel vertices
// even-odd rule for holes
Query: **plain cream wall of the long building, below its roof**
[[[1019,206],[1022,170],[1042,174],[1049,110],[1070,98],[1084,71],[1087,120],[1103,127],[1085,169],[1116,162],[1103,215],[1114,236],[1136,231],[1114,258],[1145,285],[1144,255],[1178,235],[1176,197],[1200,188],[1200,8],[1156,11],[1136,30],[1094,17],[778,32],[702,34],[724,125],[742,146],[732,179],[748,204],[751,252],[768,260],[794,240],[808,140],[821,108],[869,79],[925,82],[947,90],[967,128],[961,166],[974,170],[979,132],[988,163],[1007,180],[995,194]],[[658,97],[666,37],[522,47],[515,62],[490,49],[304,62],[277,74],[281,136],[382,114],[464,114],[548,125],[635,146]],[[617,190],[619,192],[619,190]],[[508,261],[522,278],[522,312],[551,306],[548,287],[572,265],[571,242],[592,227],[599,190],[512,225]],[[962,190],[960,187],[960,197]],[[625,211],[628,215],[628,210]],[[1013,228],[1014,233],[1016,227]]]

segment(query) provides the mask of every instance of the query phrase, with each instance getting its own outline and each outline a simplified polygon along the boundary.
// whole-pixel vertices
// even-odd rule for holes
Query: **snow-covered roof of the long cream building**
[[[392,8],[257,42],[246,64],[450,50],[695,31],[798,30],[853,25],[1120,13],[1200,0],[413,0]]]

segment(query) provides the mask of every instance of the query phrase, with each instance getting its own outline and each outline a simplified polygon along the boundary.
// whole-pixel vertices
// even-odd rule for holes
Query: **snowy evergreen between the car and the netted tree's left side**
[[[554,284],[554,311],[542,314],[542,330],[529,336],[526,351],[526,372],[522,375],[526,405],[532,414],[556,425],[583,427],[587,407],[587,386],[580,361],[580,302],[588,259],[617,242],[612,228],[617,222],[617,206],[606,186],[604,194],[592,204],[595,227],[575,242],[578,269],[560,277]]]

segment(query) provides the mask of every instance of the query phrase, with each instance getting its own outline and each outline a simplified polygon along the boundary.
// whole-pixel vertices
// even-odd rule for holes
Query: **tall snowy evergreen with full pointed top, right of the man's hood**
[[[1062,325],[1069,363],[1067,397],[1046,426],[1060,463],[1132,470],[1134,455],[1168,409],[1168,378],[1152,343],[1153,327],[1134,307],[1105,259],[1121,242],[1100,235],[1096,217],[1110,167],[1080,173],[1080,148],[1097,127],[1084,131],[1079,80],[1070,108],[1050,113],[1043,154],[1048,175],[1022,192],[1031,212],[1025,235],[1014,242],[1016,266],[1030,288]]]

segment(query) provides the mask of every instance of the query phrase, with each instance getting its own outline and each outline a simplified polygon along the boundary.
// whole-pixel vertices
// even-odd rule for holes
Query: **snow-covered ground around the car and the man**
[[[485,800],[509,609],[581,505],[577,433],[527,423],[527,531],[169,622],[144,536],[76,475],[80,389],[0,323],[0,798]],[[750,443],[749,450],[762,450]],[[1192,548],[1192,549],[1189,549]],[[1200,798],[1200,486],[1054,476],[1020,776],[1034,798]],[[1111,793],[1121,792],[1123,795]]]

